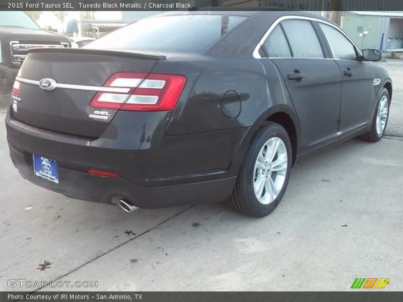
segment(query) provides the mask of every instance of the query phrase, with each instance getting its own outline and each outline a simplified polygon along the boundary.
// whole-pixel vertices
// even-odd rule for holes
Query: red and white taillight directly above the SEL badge
[[[127,92],[97,92],[90,106],[133,111],[173,110],[185,84],[183,75],[119,72],[104,87],[127,88]]]

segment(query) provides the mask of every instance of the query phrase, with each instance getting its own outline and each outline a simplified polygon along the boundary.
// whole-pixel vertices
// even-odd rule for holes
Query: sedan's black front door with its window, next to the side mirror
[[[372,121],[374,74],[371,63],[358,60],[356,47],[341,31],[323,23],[319,23],[319,27],[342,72],[340,132],[355,132]]]

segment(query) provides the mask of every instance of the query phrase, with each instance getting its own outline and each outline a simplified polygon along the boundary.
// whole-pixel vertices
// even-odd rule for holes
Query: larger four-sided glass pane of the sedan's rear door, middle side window
[[[285,20],[281,23],[295,58],[324,58],[312,24],[305,20]]]

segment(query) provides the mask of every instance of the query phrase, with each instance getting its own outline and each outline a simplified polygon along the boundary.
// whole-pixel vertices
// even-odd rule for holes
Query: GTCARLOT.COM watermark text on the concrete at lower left
[[[9,287],[48,287],[48,288],[97,288],[98,281],[32,281],[27,279],[9,279]]]

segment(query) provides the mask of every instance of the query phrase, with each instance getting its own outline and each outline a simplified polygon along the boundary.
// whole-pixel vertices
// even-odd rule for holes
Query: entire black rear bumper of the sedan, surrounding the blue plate
[[[124,114],[108,128],[121,119]],[[25,179],[73,198],[102,203],[127,198],[144,208],[227,198],[254,133],[239,128],[169,137],[154,129],[158,140],[142,146],[137,136],[144,135],[144,128],[131,128],[126,139],[106,131],[96,140],[86,140],[21,123],[11,113],[6,127],[11,158]],[[34,175],[32,154],[57,161],[59,184]],[[122,178],[91,175],[88,169],[115,172]]]

